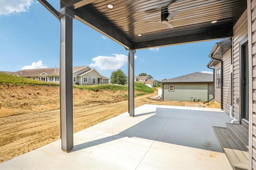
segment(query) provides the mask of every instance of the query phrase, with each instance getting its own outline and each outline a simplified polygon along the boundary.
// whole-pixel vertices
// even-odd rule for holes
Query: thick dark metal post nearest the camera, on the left
[[[70,151],[73,143],[72,27],[74,12],[60,9],[60,135],[61,148]]]

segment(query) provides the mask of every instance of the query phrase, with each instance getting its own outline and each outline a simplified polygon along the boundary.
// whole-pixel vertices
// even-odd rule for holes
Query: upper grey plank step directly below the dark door
[[[249,145],[249,134],[248,129],[240,124],[226,123],[227,129],[232,133],[236,140],[246,149],[248,152]]]

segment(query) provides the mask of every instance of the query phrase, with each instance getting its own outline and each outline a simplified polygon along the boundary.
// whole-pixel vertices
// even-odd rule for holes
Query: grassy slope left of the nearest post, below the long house
[[[24,77],[12,76],[9,74],[2,74],[0,73],[0,84],[13,84],[13,85],[23,85],[23,84],[30,84],[30,85],[53,85],[59,86],[58,83],[50,83],[50,82],[42,82],[38,80],[31,80]]]

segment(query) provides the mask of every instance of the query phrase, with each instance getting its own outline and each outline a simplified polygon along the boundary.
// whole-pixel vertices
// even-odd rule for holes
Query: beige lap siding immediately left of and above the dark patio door
[[[248,34],[247,25],[247,10],[241,16],[241,18],[234,25],[234,37],[233,37],[233,98],[240,99],[240,53],[239,46],[240,41]],[[234,117],[240,119],[240,100],[236,103],[233,101]]]

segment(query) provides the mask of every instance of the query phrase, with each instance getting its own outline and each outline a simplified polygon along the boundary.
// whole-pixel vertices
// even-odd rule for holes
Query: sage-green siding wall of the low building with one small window
[[[191,101],[190,97],[200,97],[208,100],[208,83],[170,83],[163,84],[164,100]],[[174,91],[169,92],[169,85],[174,85]]]

